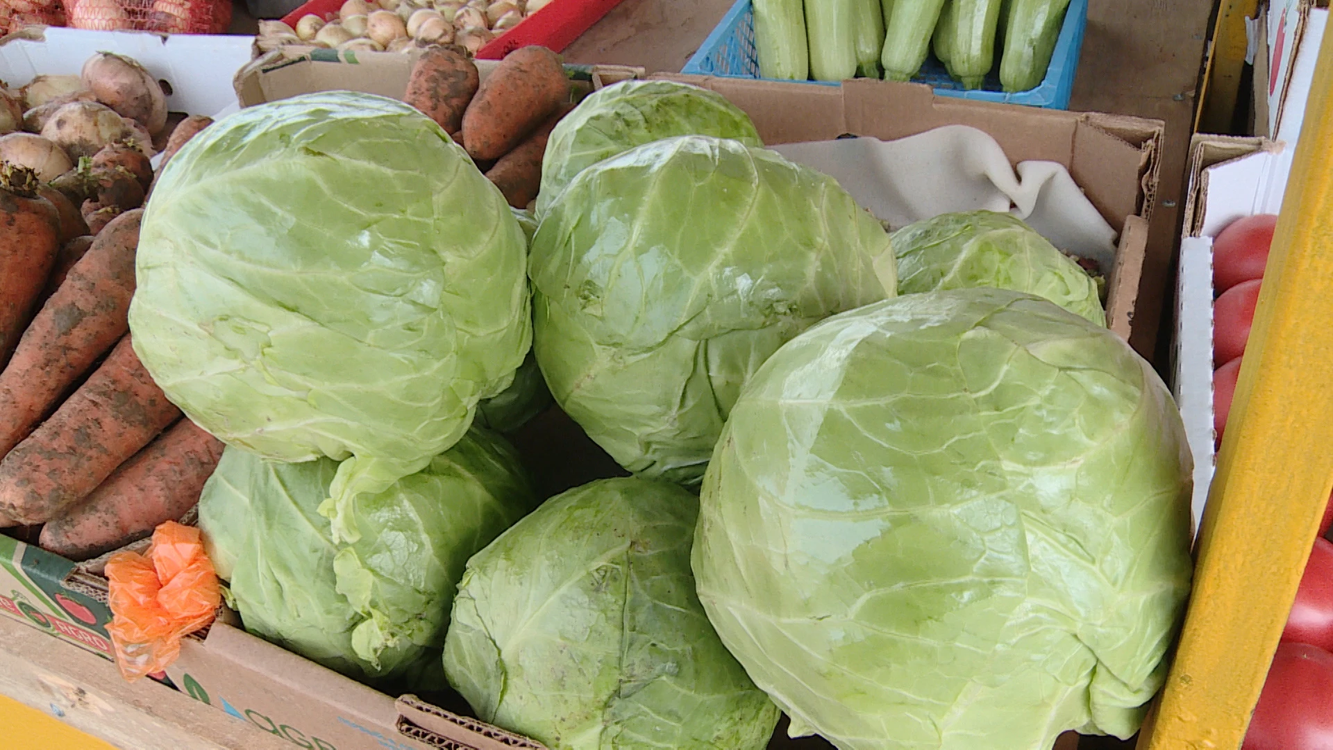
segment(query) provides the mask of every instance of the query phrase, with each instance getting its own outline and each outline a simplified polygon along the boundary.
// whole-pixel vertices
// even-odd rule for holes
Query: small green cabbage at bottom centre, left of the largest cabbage
[[[777,707],[708,623],[689,573],[698,500],[603,479],[468,560],[444,645],[477,717],[552,750],[760,750]]]

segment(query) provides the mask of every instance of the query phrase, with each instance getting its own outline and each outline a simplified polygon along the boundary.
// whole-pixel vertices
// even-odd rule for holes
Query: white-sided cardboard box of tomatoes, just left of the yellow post
[[[1196,135],[1190,143],[1176,278],[1173,394],[1194,454],[1194,527],[1216,468],[1213,430],[1213,238],[1228,224],[1282,207],[1292,147],[1264,137]]]

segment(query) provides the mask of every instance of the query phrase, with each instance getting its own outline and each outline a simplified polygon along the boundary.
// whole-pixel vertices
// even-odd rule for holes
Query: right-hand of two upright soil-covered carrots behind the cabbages
[[[560,56],[545,47],[511,52],[481,81],[463,115],[463,145],[472,159],[500,159],[569,101]]]

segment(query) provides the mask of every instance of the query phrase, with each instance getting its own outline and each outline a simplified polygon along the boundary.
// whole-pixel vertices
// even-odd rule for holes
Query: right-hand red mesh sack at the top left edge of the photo
[[[96,31],[223,33],[232,23],[231,0],[64,0],[64,7],[69,25]]]

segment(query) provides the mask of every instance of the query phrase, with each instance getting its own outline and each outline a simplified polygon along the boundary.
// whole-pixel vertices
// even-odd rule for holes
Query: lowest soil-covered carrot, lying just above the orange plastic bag
[[[151,536],[199,502],[217,468],[223,442],[181,419],[127,460],[91,495],[52,518],[40,546],[85,560]]]

